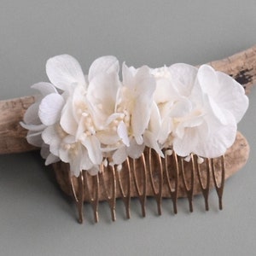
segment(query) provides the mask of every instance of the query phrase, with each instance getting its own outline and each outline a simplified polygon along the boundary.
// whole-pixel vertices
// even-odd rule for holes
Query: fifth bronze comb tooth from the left
[[[146,195],[147,195],[147,166],[146,166],[144,154],[142,154],[142,156],[140,157],[140,160],[143,161],[143,172],[142,172],[143,191],[141,191],[140,186],[138,184],[138,179],[137,179],[137,174],[136,174],[136,160],[132,160],[132,163],[133,163],[132,173],[133,173],[133,177],[134,177],[134,183],[135,183],[135,189],[137,191],[137,196],[138,196],[139,201],[142,206],[142,215],[143,215],[143,217],[145,217],[146,216],[145,204],[146,204]],[[129,165],[129,167],[131,167],[131,166]]]

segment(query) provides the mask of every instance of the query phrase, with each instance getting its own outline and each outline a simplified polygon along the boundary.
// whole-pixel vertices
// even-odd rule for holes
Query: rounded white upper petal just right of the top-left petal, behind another
[[[119,61],[114,56],[102,56],[90,65],[88,80],[96,77],[99,73],[119,73]]]

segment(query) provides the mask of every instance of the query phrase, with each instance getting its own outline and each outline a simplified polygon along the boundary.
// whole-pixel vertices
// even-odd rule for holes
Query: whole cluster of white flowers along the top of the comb
[[[234,143],[248,106],[241,84],[207,65],[124,63],[119,79],[113,56],[96,59],[84,75],[76,59],[58,55],[47,61],[46,73],[50,83],[32,85],[40,96],[21,125],[46,165],[62,160],[75,176],[136,159],[145,147],[162,157],[162,148],[218,157]]]

